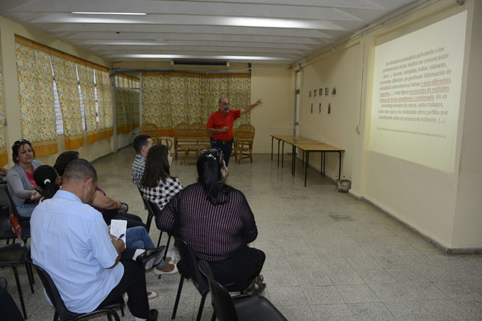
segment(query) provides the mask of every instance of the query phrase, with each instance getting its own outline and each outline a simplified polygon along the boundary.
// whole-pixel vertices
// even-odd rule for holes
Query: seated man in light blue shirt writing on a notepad
[[[124,242],[111,237],[101,213],[86,204],[96,182],[96,170],[85,159],[67,165],[62,189],[30,219],[33,263],[52,277],[72,312],[91,312],[127,292],[136,321],[157,320],[157,310],[149,310],[145,270],[133,255],[121,259]]]

